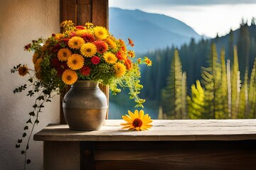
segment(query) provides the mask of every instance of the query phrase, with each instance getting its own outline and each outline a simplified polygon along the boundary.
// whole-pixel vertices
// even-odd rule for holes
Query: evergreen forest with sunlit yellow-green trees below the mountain
[[[256,118],[256,25],[143,54],[140,96],[159,119]]]

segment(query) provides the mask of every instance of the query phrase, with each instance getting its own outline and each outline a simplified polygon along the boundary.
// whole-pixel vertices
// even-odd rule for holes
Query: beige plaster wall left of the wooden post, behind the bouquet
[[[23,133],[35,98],[26,93],[13,94],[23,85],[25,78],[11,74],[10,69],[18,64],[33,68],[32,52],[23,46],[39,37],[48,37],[59,32],[58,0],[0,0],[0,169],[23,169],[21,149],[15,145]],[[59,97],[47,103],[40,115],[35,132],[48,123],[59,121]],[[25,142],[23,142],[24,144]],[[28,149],[31,164],[27,169],[43,169],[43,142],[31,140]]]

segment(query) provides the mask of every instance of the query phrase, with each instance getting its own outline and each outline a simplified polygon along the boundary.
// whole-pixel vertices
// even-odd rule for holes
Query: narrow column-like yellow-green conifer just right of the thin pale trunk
[[[238,66],[238,50],[234,47],[234,59],[233,59],[233,69],[231,73],[231,118],[235,119],[238,115],[238,98],[240,91],[240,72]]]

